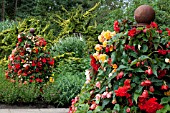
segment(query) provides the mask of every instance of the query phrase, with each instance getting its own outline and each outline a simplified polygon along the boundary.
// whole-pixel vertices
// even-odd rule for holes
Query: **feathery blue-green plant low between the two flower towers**
[[[56,107],[68,107],[71,99],[80,92],[84,83],[83,74],[79,72],[77,75],[67,71],[57,76],[53,84],[43,88],[43,101]]]

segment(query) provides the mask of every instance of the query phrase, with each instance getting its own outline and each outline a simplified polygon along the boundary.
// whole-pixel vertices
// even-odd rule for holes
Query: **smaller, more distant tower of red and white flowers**
[[[54,59],[46,51],[46,44],[42,37],[20,33],[16,48],[8,57],[6,78],[24,84],[53,82]]]

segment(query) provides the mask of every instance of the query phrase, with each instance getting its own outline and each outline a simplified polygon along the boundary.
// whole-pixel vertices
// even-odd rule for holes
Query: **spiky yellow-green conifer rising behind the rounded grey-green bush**
[[[56,15],[57,20],[53,20],[61,27],[61,31],[56,41],[73,34],[80,34],[84,36],[87,41],[88,48],[92,49],[94,42],[96,41],[94,37],[98,34],[98,31],[96,30],[96,25],[91,25],[91,19],[94,18],[93,12],[98,6],[99,3],[85,12],[80,6],[73,8],[71,11],[67,11],[62,7],[65,14],[64,17],[62,15]]]

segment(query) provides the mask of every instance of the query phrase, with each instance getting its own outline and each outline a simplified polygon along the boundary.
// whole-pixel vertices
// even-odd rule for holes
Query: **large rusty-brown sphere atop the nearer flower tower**
[[[155,11],[149,5],[141,5],[135,10],[134,18],[138,25],[147,25],[154,21]]]

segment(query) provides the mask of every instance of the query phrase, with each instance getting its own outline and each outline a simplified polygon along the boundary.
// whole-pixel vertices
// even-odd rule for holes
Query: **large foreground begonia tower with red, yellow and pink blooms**
[[[103,31],[69,113],[166,113],[170,111],[170,30],[155,22],[114,22]]]

